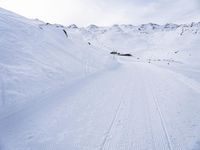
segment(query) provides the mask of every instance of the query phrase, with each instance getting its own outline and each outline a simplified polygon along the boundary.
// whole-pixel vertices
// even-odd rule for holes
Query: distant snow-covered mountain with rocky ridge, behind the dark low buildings
[[[68,33],[72,37],[82,37],[96,47],[133,53],[141,59],[169,59],[199,64],[200,22],[112,27],[90,25],[86,28],[68,27]]]

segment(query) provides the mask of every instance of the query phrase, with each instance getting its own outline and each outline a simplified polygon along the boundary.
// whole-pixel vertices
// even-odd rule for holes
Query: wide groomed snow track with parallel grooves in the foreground
[[[188,82],[123,61],[0,118],[0,150],[198,150],[200,92]]]

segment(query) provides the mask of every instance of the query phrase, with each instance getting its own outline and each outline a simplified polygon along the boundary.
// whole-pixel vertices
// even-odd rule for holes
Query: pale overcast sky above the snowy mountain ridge
[[[0,7],[63,25],[200,21],[200,0],[0,0]]]

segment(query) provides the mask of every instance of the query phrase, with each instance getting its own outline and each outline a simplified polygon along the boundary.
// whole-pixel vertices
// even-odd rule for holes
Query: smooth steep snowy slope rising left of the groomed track
[[[104,67],[104,53],[64,30],[0,9],[1,109]]]

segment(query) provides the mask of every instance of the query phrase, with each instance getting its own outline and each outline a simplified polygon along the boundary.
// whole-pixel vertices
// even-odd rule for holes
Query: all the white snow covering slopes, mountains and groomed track
[[[199,31],[65,27],[0,8],[0,150],[200,149]]]

